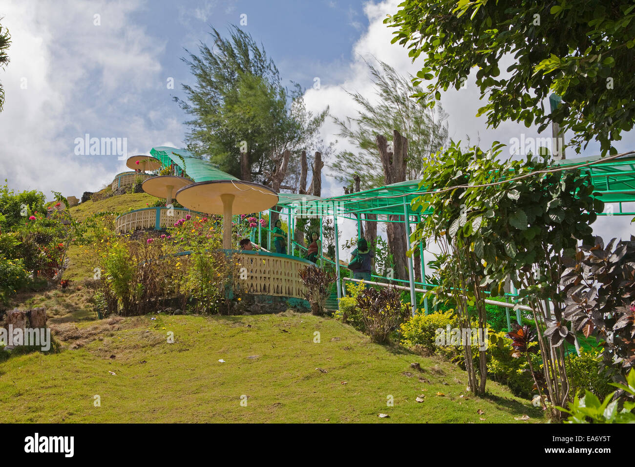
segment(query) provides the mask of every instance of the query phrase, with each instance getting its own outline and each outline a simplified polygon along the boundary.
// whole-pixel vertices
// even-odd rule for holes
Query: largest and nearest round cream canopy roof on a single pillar
[[[177,201],[193,211],[222,214],[222,194],[233,194],[232,213],[248,214],[275,206],[278,196],[271,188],[243,180],[197,182],[177,191]]]

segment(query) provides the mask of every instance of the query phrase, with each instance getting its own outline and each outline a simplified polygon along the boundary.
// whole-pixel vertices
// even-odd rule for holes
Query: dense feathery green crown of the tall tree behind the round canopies
[[[297,172],[299,151],[314,142],[328,108],[317,116],[307,111],[300,86],[288,90],[271,58],[241,28],[232,26],[229,37],[212,29],[211,36],[211,48],[201,43],[199,55],[184,58],[196,86],[183,85],[187,100],[175,98],[192,116],[188,149],[262,183],[271,181],[267,172],[279,170],[278,158],[288,149],[287,170]]]

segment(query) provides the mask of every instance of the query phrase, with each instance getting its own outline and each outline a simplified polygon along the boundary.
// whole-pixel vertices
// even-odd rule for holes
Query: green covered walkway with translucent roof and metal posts
[[[183,149],[172,147],[156,147],[152,148],[150,154],[161,160],[164,166],[175,164],[180,173],[186,172],[190,178],[198,181],[203,180],[220,180],[234,179],[232,175],[222,172],[217,166],[210,161],[197,158],[194,154]],[[556,161],[553,168],[575,168],[580,167],[582,173],[591,175],[598,198],[605,203],[618,203],[619,212],[604,213],[605,215],[635,215],[635,212],[622,209],[622,203],[635,203],[635,156],[624,156],[618,159],[612,159],[603,162],[599,156],[588,158],[564,159]],[[413,210],[411,202],[415,198],[426,193],[422,187],[422,180],[408,180],[396,184],[372,188],[357,193],[344,194],[342,196],[331,196],[328,198],[320,198],[308,194],[279,193],[279,201],[276,205],[276,212],[284,214],[288,218],[288,238],[291,240],[291,232],[295,231],[294,219],[298,217],[333,217],[333,226],[335,227],[335,269],[337,272],[337,296],[342,298],[342,276],[340,274],[339,261],[339,245],[338,245],[338,218],[355,220],[358,222],[358,234],[361,231],[361,214],[375,214],[377,217],[382,216],[383,219],[377,219],[375,222],[404,222],[406,224],[406,245],[410,249],[410,224],[417,223],[430,213],[429,210]],[[268,243],[271,248],[271,211],[269,209],[269,228]],[[389,219],[389,216],[398,216],[396,219]],[[259,215],[260,217],[260,215]],[[368,221],[369,219],[364,219]],[[372,220],[371,220],[372,221]],[[320,229],[322,222],[320,222]],[[258,228],[258,238],[262,243],[263,227],[258,222],[258,227],[253,227],[251,233],[252,238],[255,236],[255,229]],[[320,232],[321,238],[321,232]],[[297,245],[305,248],[304,245]],[[293,242],[288,241],[288,254],[293,253]],[[417,303],[415,298],[415,288],[417,285],[422,290],[427,291],[428,287],[436,287],[433,284],[425,283],[425,261],[424,248],[420,248],[421,255],[421,278],[422,282],[415,282],[415,274],[413,270],[413,258],[408,257],[408,278],[409,280],[391,279],[391,281],[408,283],[410,285],[410,298],[413,313],[416,313]],[[322,262],[330,260],[320,254]],[[380,276],[375,276],[380,278]],[[385,278],[384,278],[385,279]],[[514,294],[506,294],[510,296]],[[427,299],[424,301],[425,313],[428,313]],[[517,319],[520,320],[518,313]],[[508,316],[509,320],[509,316]]]

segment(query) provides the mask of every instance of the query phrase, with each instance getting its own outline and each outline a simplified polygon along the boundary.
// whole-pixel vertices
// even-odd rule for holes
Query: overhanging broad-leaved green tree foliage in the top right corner
[[[596,139],[606,154],[635,121],[635,102],[625,98],[635,90],[634,17],[631,0],[610,5],[406,0],[385,23],[397,28],[392,43],[408,46],[413,60],[424,57],[414,82],[431,82],[419,94],[422,100],[430,95],[439,100],[441,90],[462,88],[477,70],[476,86],[488,100],[479,115],[486,114],[489,126],[507,120],[535,123],[540,133],[556,122],[563,132],[574,133],[574,144],[586,147]],[[500,60],[509,53],[514,60],[501,70]],[[563,102],[549,112],[543,103],[552,91]]]

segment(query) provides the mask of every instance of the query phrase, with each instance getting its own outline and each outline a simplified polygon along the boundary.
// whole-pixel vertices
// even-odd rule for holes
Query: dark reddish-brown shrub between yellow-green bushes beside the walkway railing
[[[396,288],[366,288],[358,295],[357,302],[364,332],[375,342],[385,342],[408,317],[408,306],[401,302]]]

